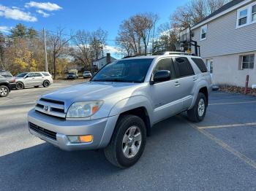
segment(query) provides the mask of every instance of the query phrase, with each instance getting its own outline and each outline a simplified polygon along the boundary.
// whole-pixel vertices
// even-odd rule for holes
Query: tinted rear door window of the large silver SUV
[[[195,74],[187,58],[175,58],[175,64],[176,70],[178,71],[178,77],[187,77]]]

